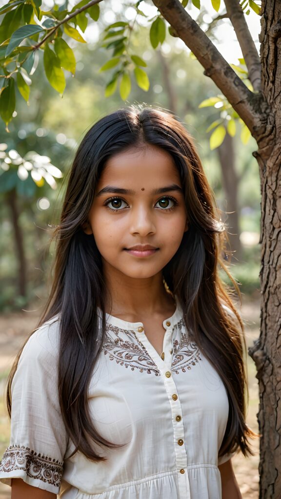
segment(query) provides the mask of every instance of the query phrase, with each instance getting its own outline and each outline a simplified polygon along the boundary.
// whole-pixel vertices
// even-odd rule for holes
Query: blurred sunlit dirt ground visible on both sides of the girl
[[[247,347],[259,336],[259,295],[242,298],[241,315],[245,324],[245,339]],[[0,316],[0,456],[8,445],[9,420],[3,401],[3,391],[6,376],[13,358],[24,342],[26,336],[35,327],[38,320],[38,310],[21,311],[18,313],[3,314]],[[256,414],[258,411],[258,386],[255,378],[255,366],[247,356],[249,404],[246,423],[256,433],[258,425]],[[244,458],[241,453],[232,458],[236,480],[240,487],[243,499],[258,498],[258,439],[251,441],[254,456]],[[0,499],[10,498],[10,489],[0,484]]]

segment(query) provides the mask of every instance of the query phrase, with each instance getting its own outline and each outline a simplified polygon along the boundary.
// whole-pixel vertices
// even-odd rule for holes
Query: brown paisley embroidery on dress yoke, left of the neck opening
[[[111,336],[110,332],[113,333],[114,337]],[[119,336],[120,332],[125,333],[127,339],[124,340]],[[115,360],[117,364],[124,365],[126,368],[130,367],[132,371],[138,369],[141,373],[154,373],[155,376],[160,376],[156,364],[149,357],[142,343],[138,341],[134,331],[107,324],[103,351],[105,355],[108,354],[110,360]]]

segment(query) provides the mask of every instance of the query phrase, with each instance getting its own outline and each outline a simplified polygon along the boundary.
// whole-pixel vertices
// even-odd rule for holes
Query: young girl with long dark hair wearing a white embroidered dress
[[[85,135],[39,328],[10,375],[12,499],[238,499],[252,454],[223,226],[185,128],[122,109]]]

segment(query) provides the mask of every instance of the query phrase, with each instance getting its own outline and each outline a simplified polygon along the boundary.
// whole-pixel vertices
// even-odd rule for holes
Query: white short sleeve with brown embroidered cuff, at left
[[[28,339],[11,385],[10,446],[0,462],[0,481],[21,478],[59,493],[67,436],[57,391],[58,321]]]

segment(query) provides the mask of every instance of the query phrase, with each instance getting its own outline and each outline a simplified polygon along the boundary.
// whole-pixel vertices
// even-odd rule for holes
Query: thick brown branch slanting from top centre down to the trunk
[[[204,67],[204,74],[213,80],[249,130],[253,132],[258,128],[260,114],[268,107],[261,93],[254,94],[246,87],[178,0],[152,1]]]

